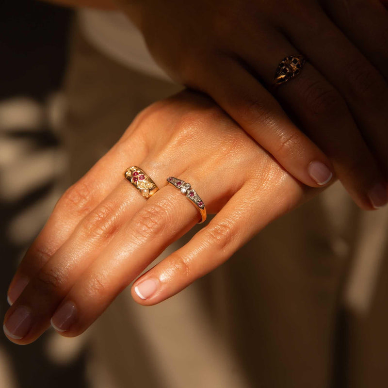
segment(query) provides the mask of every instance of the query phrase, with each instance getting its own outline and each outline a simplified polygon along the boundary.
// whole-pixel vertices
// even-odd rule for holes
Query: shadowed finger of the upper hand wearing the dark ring
[[[269,55],[262,57],[246,50],[242,57],[246,63],[254,64],[254,71],[270,86],[274,64],[291,53],[298,55],[298,50],[281,34],[276,36],[275,33],[266,41],[271,42],[267,50]],[[379,166],[347,103],[323,75],[307,62],[300,74],[281,85],[276,94],[308,136],[331,158],[339,179],[358,206],[371,210],[384,205],[386,183]]]

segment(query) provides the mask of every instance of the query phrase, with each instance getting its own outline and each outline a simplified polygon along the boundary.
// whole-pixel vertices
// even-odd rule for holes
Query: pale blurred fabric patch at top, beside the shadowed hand
[[[171,81],[149,54],[141,33],[123,13],[84,8],[79,11],[79,19],[84,37],[109,58]]]

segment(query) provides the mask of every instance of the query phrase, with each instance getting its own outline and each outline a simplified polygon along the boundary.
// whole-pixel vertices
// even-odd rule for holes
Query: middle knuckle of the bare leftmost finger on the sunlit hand
[[[62,195],[58,205],[75,215],[83,215],[93,207],[93,195],[89,184],[81,180],[70,186]]]

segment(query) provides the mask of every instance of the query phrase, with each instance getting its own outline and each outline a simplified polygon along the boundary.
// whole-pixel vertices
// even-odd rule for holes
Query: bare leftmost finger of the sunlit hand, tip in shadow
[[[143,160],[145,149],[141,142],[136,144],[138,146],[135,149],[129,150],[118,143],[62,195],[16,270],[7,293],[10,305],[67,240],[77,224],[122,180],[122,173],[128,167],[127,161],[136,163]]]

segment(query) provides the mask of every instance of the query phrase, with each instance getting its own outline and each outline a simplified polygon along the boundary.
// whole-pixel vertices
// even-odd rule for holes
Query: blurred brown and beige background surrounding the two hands
[[[84,26],[93,21],[101,28],[84,28],[81,34],[73,29],[71,10],[44,2],[0,2],[1,316],[8,309],[6,293],[18,262],[68,186],[66,172],[74,172],[73,181],[79,178],[115,143],[136,113],[180,88],[136,50],[136,39],[129,41],[128,50],[113,50],[109,39],[100,47],[94,42],[93,36],[102,41],[110,36],[101,33],[111,31],[105,30],[105,21],[120,30],[123,15],[80,14]],[[78,37],[70,43],[74,30]],[[70,46],[76,55],[66,72],[72,97],[67,99],[62,90]],[[79,113],[70,117],[71,147],[66,149],[72,149],[71,157],[61,133],[66,101],[72,104],[68,111]],[[326,220],[327,210],[339,216]],[[299,378],[306,373],[317,379],[316,387],[326,387],[327,378],[331,381],[327,387],[385,388],[387,210],[360,212],[335,184],[268,226],[242,248],[240,261],[229,260],[161,305],[152,309],[137,305],[128,288],[96,321],[94,335],[88,330],[64,338],[50,328],[32,344],[19,346],[1,334],[0,388],[240,388],[226,373],[233,374],[240,364],[241,375],[252,378],[249,387],[256,387],[258,380],[263,387],[286,387],[283,381],[288,384],[289,375]],[[289,241],[280,244],[279,231]],[[274,254],[282,250],[287,254]],[[289,268],[306,274],[298,278],[298,287]],[[236,274],[243,277],[244,270],[257,274],[255,308],[236,296],[245,290],[236,281]],[[217,293],[220,284],[222,292]],[[272,316],[270,309],[265,311],[270,295],[278,299],[272,301]],[[304,298],[309,302],[302,321],[295,306],[306,302]],[[224,306],[226,300],[230,306]],[[290,307],[287,319],[278,319],[277,312],[285,305]],[[229,313],[228,319],[224,313]],[[316,344],[295,349],[293,340],[306,333]],[[228,364],[223,357],[230,355],[233,363]],[[181,383],[186,376],[191,376],[191,385]],[[221,380],[223,384],[209,384]]]

